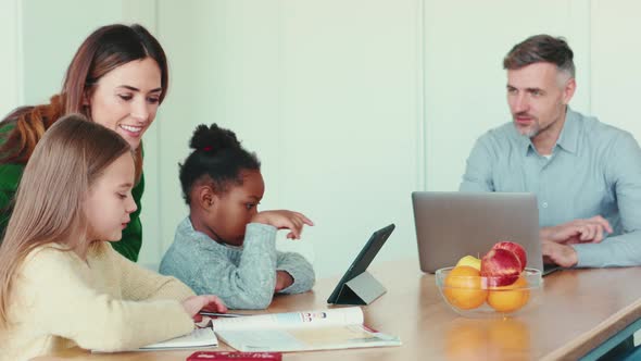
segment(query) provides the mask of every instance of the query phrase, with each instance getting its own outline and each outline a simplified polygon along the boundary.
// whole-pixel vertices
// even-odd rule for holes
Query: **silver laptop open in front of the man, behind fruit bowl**
[[[481,258],[502,240],[520,244],[527,266],[544,271],[533,194],[414,191],[412,204],[423,272]]]

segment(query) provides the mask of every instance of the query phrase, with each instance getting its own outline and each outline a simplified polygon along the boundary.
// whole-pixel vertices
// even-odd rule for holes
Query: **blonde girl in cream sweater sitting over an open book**
[[[77,114],[35,147],[0,247],[0,361],[135,349],[191,332],[201,309],[227,310],[109,246],[136,211],[135,157]]]

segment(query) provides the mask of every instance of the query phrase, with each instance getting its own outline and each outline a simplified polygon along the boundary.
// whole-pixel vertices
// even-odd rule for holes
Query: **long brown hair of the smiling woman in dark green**
[[[32,155],[45,132],[61,116],[80,113],[88,119],[91,111],[84,99],[90,95],[98,79],[112,70],[135,60],[152,58],[161,70],[160,102],[168,88],[168,70],[165,52],[158,40],[140,25],[108,25],[98,28],[80,45],[64,79],[62,91],[49,104],[18,108],[0,123],[0,127],[14,124],[0,147],[0,163],[24,164]],[[1,142],[1,141],[0,141]],[[142,173],[141,147],[136,149],[136,175]]]

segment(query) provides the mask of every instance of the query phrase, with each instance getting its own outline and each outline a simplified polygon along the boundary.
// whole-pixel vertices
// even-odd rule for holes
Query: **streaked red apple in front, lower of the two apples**
[[[520,275],[518,257],[505,249],[491,249],[481,259],[481,276],[486,286],[503,287],[512,285]]]

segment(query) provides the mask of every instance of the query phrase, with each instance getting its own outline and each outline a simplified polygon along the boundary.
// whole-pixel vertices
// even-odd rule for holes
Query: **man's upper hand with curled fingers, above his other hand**
[[[574,220],[553,227],[543,227],[539,232],[542,242],[552,241],[561,245],[598,244],[612,233],[609,222],[601,215],[591,219]]]

